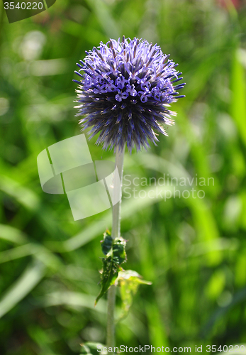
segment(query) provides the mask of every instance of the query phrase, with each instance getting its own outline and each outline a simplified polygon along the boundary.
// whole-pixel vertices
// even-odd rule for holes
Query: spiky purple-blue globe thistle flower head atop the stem
[[[77,116],[85,115],[79,122],[91,128],[91,137],[99,133],[97,144],[122,150],[126,143],[132,151],[149,146],[148,140],[156,145],[157,133],[167,136],[163,124],[176,116],[168,107],[184,97],[177,92],[184,83],[174,84],[181,72],[160,46],[123,37],[100,43],[80,62],[80,81],[73,80],[79,84]]]

